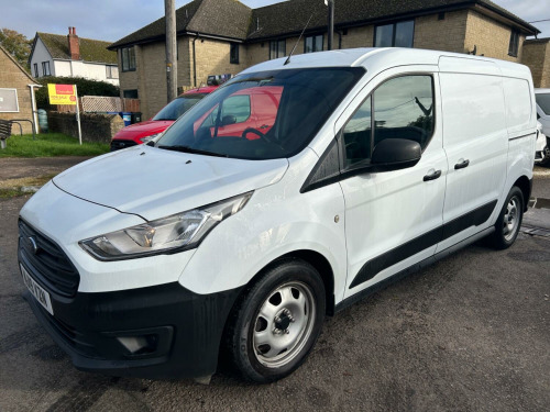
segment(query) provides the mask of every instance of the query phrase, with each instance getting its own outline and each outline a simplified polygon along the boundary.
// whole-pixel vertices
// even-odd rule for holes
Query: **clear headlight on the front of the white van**
[[[239,212],[252,192],[204,208],[173,214],[121,231],[80,241],[80,246],[99,260],[122,260],[197,247],[222,220]]]

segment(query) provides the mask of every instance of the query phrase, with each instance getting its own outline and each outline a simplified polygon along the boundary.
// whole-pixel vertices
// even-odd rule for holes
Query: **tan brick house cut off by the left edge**
[[[33,93],[34,87],[38,85],[2,46],[0,46],[0,67],[2,68],[0,70],[0,119],[33,121],[33,102],[35,102]],[[32,133],[29,122],[20,124],[23,133]],[[12,133],[19,134],[16,125],[13,125]]]

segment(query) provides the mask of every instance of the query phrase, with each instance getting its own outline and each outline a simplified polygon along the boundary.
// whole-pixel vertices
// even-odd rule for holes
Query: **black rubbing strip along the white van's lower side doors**
[[[439,242],[444,241],[469,227],[479,226],[485,223],[495,210],[497,201],[484,204],[473,211],[457,218],[449,223],[435,229],[424,235],[420,235],[396,248],[386,252],[374,259],[369,260],[359,270],[358,275],[350,285],[350,289],[361,285],[367,280],[371,280],[382,270],[398,264],[406,258],[416,255],[419,252],[427,249],[428,247],[437,245]]]

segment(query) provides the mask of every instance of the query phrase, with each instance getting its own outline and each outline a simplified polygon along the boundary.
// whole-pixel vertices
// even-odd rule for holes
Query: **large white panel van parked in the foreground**
[[[29,301],[77,368],[208,381],[222,352],[273,381],[326,314],[481,237],[514,243],[537,135],[527,67],[399,48],[284,63],[24,205]]]

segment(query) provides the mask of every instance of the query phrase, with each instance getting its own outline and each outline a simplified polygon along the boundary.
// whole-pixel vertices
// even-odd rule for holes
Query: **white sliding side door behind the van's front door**
[[[486,60],[441,57],[443,147],[449,159],[443,250],[490,226],[506,181],[503,78]]]

